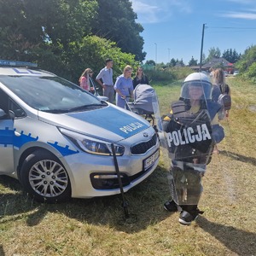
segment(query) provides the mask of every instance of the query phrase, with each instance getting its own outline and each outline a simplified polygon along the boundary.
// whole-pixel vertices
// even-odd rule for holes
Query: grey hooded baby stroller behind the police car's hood
[[[152,105],[155,90],[148,84],[137,84],[133,90],[134,102],[128,102],[128,108],[154,126],[154,109]]]

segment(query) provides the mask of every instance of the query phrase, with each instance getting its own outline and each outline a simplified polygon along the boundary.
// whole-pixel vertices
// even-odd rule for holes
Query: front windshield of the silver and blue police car
[[[65,113],[107,105],[90,92],[59,77],[0,76],[0,82],[32,108]]]

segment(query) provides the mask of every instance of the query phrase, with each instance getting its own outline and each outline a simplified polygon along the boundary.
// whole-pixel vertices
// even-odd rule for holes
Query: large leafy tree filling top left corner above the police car
[[[2,55],[21,60],[33,49],[59,54],[90,33],[96,0],[0,0]]]

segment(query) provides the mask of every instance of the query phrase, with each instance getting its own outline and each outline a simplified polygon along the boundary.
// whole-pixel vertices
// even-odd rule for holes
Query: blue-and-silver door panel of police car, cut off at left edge
[[[14,172],[14,121],[0,109],[0,174]]]

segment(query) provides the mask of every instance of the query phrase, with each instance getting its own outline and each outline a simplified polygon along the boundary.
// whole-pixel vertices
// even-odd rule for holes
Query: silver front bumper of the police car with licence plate
[[[119,174],[126,192],[148,177],[159,162],[159,142],[145,154],[117,156]],[[72,197],[90,198],[120,193],[113,156],[72,154],[65,157]]]

